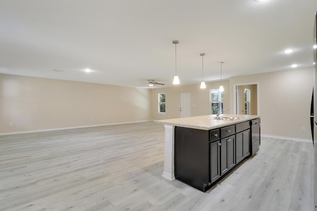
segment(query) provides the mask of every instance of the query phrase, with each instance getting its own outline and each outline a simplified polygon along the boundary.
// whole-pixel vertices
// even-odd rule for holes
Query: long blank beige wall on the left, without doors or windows
[[[0,133],[151,120],[151,102],[145,88],[0,74]]]

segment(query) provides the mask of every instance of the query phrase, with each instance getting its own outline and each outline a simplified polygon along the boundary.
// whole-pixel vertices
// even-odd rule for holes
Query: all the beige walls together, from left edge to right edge
[[[191,116],[209,115],[209,90],[220,84],[223,107],[234,113],[234,84],[251,83],[258,83],[262,134],[311,139],[313,68],[233,77],[206,83],[206,89],[200,84],[145,89],[0,74],[0,133],[179,118],[180,92],[191,92]],[[158,112],[162,92],[165,114]]]

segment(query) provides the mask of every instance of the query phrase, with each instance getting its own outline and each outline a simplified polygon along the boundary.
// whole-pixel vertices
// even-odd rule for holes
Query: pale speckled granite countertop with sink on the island
[[[254,120],[260,118],[258,115],[237,115],[237,114],[221,114],[220,117],[234,117],[238,118],[237,120],[215,120],[216,115],[205,115],[197,117],[186,117],[186,118],[177,118],[169,120],[158,120],[154,121],[157,124],[171,125],[178,127],[188,127],[194,129],[203,129],[210,130],[219,127],[225,127],[230,125],[235,125],[238,123],[243,123],[249,120]],[[242,118],[242,119],[239,119]]]

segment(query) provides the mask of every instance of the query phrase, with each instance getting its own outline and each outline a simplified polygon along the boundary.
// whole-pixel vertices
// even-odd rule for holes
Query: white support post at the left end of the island
[[[175,126],[164,125],[164,171],[162,176],[169,180],[175,179],[174,174],[174,128]]]

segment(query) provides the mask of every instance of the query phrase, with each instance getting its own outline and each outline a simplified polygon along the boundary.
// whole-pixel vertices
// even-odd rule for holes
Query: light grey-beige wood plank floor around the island
[[[203,193],[163,172],[153,122],[0,136],[1,211],[313,211],[313,144],[264,138]]]

